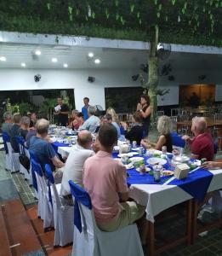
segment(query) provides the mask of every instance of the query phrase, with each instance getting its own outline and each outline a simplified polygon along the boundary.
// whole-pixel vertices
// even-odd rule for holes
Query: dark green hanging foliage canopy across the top
[[[0,30],[222,45],[220,0],[6,0]]]

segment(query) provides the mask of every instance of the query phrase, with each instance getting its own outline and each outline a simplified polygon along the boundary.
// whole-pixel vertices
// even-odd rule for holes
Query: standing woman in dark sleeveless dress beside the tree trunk
[[[151,122],[151,106],[150,106],[150,96],[141,95],[140,102],[137,104],[136,110],[140,113],[141,118],[143,119],[144,127],[144,137],[148,136]]]

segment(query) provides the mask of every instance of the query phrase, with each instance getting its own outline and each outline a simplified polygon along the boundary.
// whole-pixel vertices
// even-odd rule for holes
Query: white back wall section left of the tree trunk
[[[36,83],[34,75],[40,73],[42,79]],[[130,70],[36,70],[36,69],[1,69],[0,90],[47,90],[74,89],[76,108],[83,107],[83,97],[88,96],[90,104],[100,104],[105,108],[105,87],[138,86],[131,77]],[[95,78],[88,83],[88,76]],[[124,99],[122,99],[124,100]]]

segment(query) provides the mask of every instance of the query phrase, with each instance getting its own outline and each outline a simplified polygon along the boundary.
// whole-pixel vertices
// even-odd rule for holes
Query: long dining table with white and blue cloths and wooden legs
[[[67,145],[62,145],[58,147],[58,152],[62,157],[66,158],[71,151],[71,147],[67,147]],[[157,154],[161,152],[157,151]],[[117,154],[113,154],[114,158],[117,158]],[[147,157],[144,157],[145,162],[147,161]],[[201,172],[201,171],[196,171]],[[210,182],[208,183],[208,187],[206,187],[206,195],[212,191],[217,191],[222,188],[222,169],[219,170],[208,170],[209,174],[212,176]],[[196,228],[196,209],[198,200],[189,193],[185,189],[181,189],[179,185],[172,183],[164,184],[166,178],[162,180],[161,183],[152,182],[151,177],[149,177],[149,173],[145,173],[144,176],[139,175],[134,168],[128,170],[129,177],[128,186],[129,186],[129,196],[134,201],[138,202],[140,205],[145,206],[146,219],[148,221],[147,229],[148,229],[148,255],[153,256],[156,253],[161,253],[167,250],[170,247],[174,247],[179,243],[185,241],[188,245],[194,242],[197,228]],[[189,177],[194,177],[195,173],[191,173],[188,175]],[[132,183],[131,180],[135,178],[139,178],[139,183]],[[153,178],[153,177],[152,177]],[[143,181],[144,179],[144,181]],[[205,177],[199,177],[200,188],[202,184],[204,184]],[[151,181],[151,183],[150,183]],[[168,210],[171,207],[179,205],[180,203],[185,202],[187,205],[186,208],[186,223],[185,223],[185,236],[180,236],[179,239],[169,242],[162,247],[155,246],[155,220],[161,212]],[[222,205],[221,196],[218,196],[217,203]],[[221,219],[219,219],[221,221]],[[219,222],[220,223],[220,222]],[[220,223],[222,224],[222,223]]]

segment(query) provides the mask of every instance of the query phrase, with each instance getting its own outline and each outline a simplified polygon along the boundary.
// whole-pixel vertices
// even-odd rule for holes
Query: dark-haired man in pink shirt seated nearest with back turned
[[[94,217],[100,230],[114,231],[141,218],[145,207],[127,201],[126,168],[111,157],[112,148],[117,144],[115,126],[102,125],[99,142],[100,151],[85,161],[83,185],[91,197]]]

